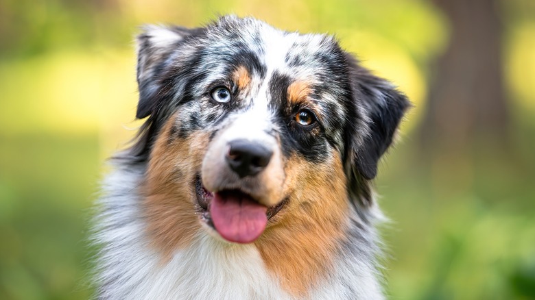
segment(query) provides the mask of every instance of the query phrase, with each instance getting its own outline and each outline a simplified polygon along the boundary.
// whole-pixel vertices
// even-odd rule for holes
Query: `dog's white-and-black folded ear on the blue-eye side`
[[[160,90],[158,73],[185,37],[200,29],[146,25],[136,37],[139,103],[136,118],[152,114]]]

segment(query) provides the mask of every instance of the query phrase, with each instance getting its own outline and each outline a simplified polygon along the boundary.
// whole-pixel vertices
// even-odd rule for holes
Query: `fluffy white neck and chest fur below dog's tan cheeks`
[[[254,245],[230,245],[204,231],[190,247],[164,260],[145,236],[139,196],[145,167],[117,162],[104,179],[94,235],[101,247],[99,299],[383,299],[377,238],[356,213],[348,220],[351,228],[334,254],[332,271],[304,297],[285,291]]]

